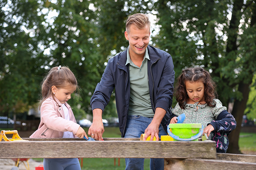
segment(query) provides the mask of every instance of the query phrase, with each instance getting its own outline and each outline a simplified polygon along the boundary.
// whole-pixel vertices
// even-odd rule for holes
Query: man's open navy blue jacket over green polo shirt
[[[148,85],[152,109],[155,113],[157,107],[166,110],[162,119],[162,126],[171,116],[174,66],[170,54],[163,50],[148,46]],[[119,129],[122,137],[125,134],[125,125],[130,101],[130,76],[129,66],[126,65],[127,50],[119,53],[108,60],[108,65],[102,75],[100,83],[97,84],[91,98],[92,110],[99,108],[104,110],[109,102],[110,96],[115,88],[116,109],[119,119]]]

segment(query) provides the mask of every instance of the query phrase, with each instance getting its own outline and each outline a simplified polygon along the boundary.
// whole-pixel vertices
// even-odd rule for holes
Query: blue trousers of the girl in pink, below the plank
[[[81,170],[78,158],[44,158],[44,170]]]

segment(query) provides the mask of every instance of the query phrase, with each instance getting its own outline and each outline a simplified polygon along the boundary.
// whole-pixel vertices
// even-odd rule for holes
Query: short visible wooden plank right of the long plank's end
[[[244,161],[244,162],[256,163],[256,155],[217,153],[217,159],[219,159],[219,160],[232,160],[232,161]]]

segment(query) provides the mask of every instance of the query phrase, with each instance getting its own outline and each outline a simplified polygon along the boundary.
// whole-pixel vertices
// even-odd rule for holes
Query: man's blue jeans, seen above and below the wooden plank
[[[126,121],[126,132],[124,138],[140,138],[140,135],[145,132],[153,117],[143,117],[137,115],[128,115]],[[167,135],[160,124],[159,138],[161,135]],[[125,170],[143,170],[144,158],[125,158]],[[164,170],[163,158],[150,158],[150,170]]]

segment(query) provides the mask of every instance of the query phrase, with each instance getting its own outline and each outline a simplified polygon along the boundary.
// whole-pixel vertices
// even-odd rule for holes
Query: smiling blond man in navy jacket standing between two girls
[[[108,60],[108,65],[91,98],[92,125],[88,134],[102,139],[102,112],[115,88],[119,128],[123,138],[159,140],[166,135],[171,115],[174,70],[170,54],[148,46],[148,15],[134,14],[127,19],[126,51]],[[126,158],[126,169],[143,169],[144,158]],[[150,159],[150,169],[164,169],[164,159]]]

